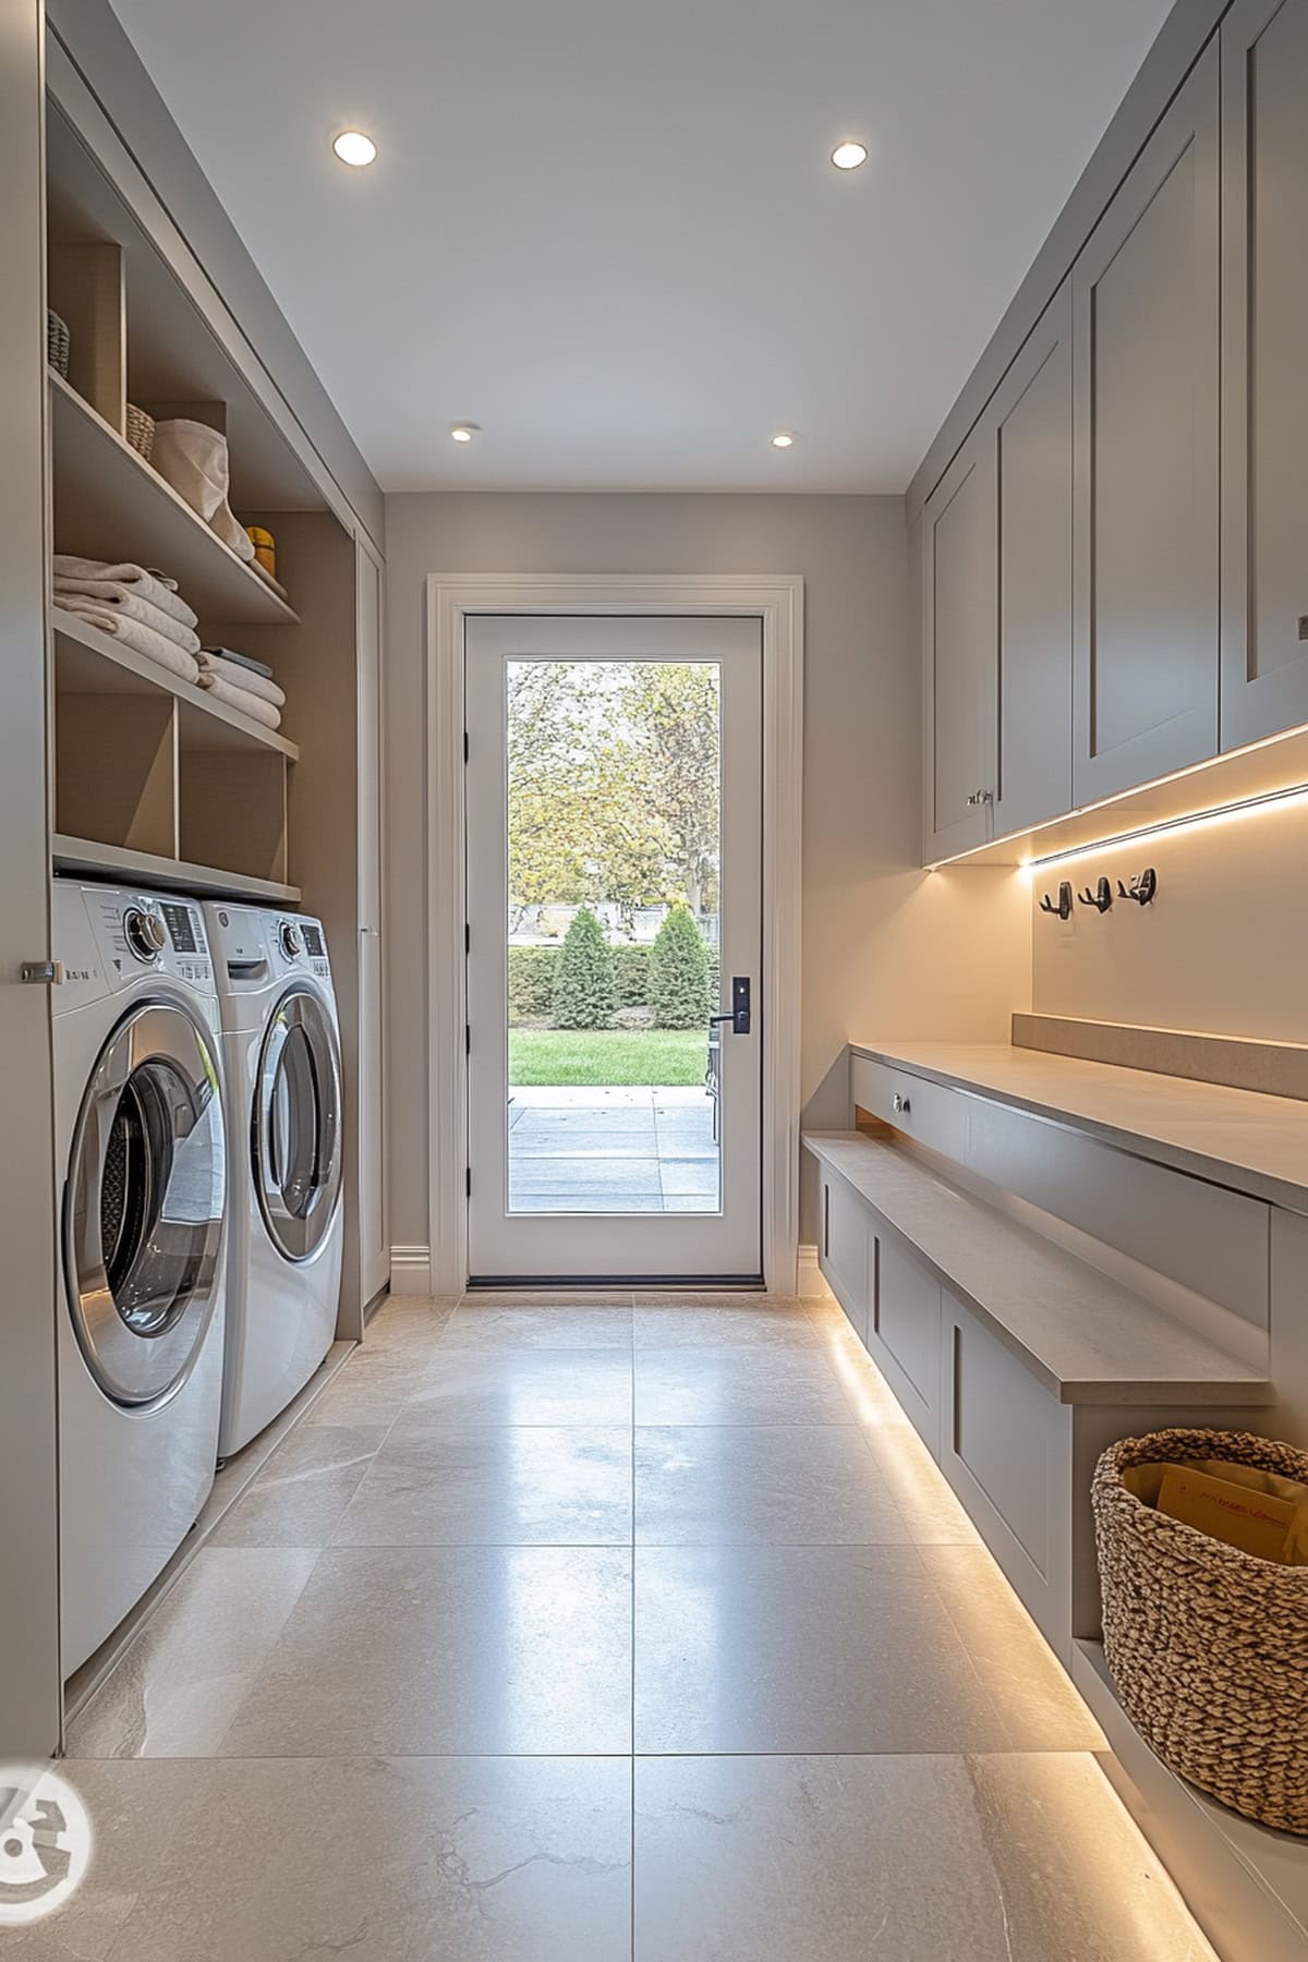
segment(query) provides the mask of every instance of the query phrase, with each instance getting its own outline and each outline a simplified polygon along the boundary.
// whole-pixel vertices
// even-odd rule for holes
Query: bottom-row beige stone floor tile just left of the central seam
[[[626,1760],[200,1768],[131,1962],[628,1962]]]

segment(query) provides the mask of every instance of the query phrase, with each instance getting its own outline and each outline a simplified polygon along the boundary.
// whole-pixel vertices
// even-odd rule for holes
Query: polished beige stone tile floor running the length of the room
[[[69,1742],[4,1956],[1212,1962],[824,1305],[390,1305]]]

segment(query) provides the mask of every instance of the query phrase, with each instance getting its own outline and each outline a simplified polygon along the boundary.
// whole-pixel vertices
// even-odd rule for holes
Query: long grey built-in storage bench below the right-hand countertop
[[[1098,1634],[1090,1473],[1165,1424],[1265,1428],[1265,1371],[951,1183],[912,1148],[808,1132],[818,1258],[1053,1648]]]

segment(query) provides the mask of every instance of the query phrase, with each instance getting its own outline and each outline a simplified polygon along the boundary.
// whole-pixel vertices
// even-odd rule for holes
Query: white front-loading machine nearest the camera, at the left
[[[57,881],[53,955],[71,1674],[141,1599],[214,1483],[227,1138],[200,903]]]

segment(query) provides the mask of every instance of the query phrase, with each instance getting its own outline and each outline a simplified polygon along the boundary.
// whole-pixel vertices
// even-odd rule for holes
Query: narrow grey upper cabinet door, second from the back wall
[[[986,416],[998,481],[998,836],[1073,800],[1071,322],[1065,284]]]

